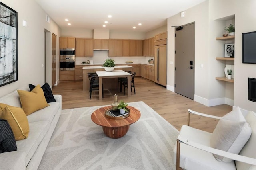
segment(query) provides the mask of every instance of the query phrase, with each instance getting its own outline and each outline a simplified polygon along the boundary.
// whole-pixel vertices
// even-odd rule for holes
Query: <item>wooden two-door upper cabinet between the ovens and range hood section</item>
[[[93,39],[76,38],[76,57],[93,57]]]

